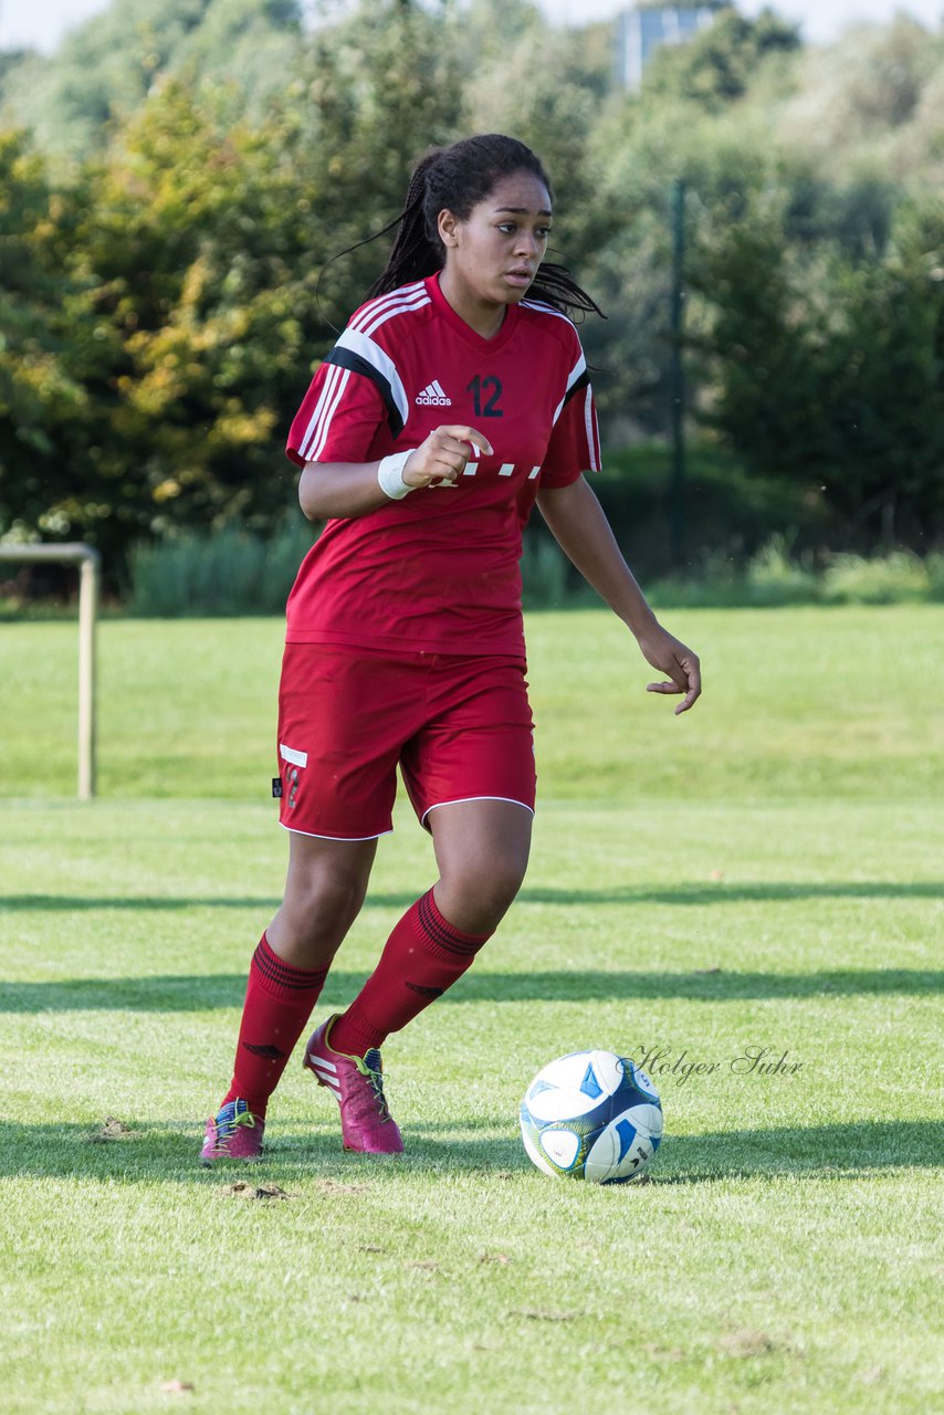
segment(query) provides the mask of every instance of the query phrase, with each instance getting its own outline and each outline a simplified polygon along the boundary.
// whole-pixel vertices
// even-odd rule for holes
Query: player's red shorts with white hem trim
[[[423,825],[456,801],[534,811],[532,733],[525,665],[515,659],[286,644],[279,819],[335,841],[385,835],[398,763]]]

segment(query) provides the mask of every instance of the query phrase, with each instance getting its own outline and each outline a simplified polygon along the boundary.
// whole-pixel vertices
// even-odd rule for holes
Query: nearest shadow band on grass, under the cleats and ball
[[[273,1128],[275,1129],[275,1128]],[[444,1133],[447,1132],[447,1133]],[[498,1132],[498,1133],[495,1133]],[[335,1125],[299,1131],[292,1122],[272,1135],[262,1163],[201,1169],[201,1128],[194,1122],[134,1126],[120,1139],[95,1143],[93,1126],[75,1124],[4,1125],[0,1176],[7,1179],[92,1179],[109,1183],[229,1184],[236,1179],[307,1184],[317,1197],[344,1196],[344,1186],[378,1187],[403,1177],[470,1174],[483,1184],[538,1174],[525,1157],[508,1116],[456,1125],[419,1125],[406,1132],[406,1155],[347,1155]],[[859,1121],[846,1125],[720,1131],[669,1135],[650,1170],[654,1184],[785,1176],[868,1179],[883,1170],[937,1167],[941,1126],[931,1121]],[[543,1180],[542,1180],[543,1183]],[[355,1189],[354,1186],[358,1186]]]

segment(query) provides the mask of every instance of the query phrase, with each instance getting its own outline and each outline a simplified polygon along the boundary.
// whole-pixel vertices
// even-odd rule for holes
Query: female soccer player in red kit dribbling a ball
[[[439,879],[396,924],[304,1065],[341,1108],[345,1149],[396,1153],[379,1047],[460,978],[524,879],[535,804],[521,533],[535,501],[570,560],[665,675],[698,658],[655,620],[583,477],[600,464],[566,310],[596,310],[542,266],[551,188],[511,137],[418,166],[386,270],[289,433],[301,509],[327,525],[287,608],[279,693],[284,899],[255,951],[235,1074],[201,1160],[255,1159],[266,1104],[391,831],[399,764]],[[388,228],[391,229],[391,228]],[[599,311],[597,311],[599,313]]]

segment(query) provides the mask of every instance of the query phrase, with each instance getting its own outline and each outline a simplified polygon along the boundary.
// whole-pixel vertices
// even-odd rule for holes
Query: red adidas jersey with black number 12
[[[538,488],[600,467],[566,316],[524,300],[485,340],[437,276],[369,300],[317,369],[287,453],[300,466],[378,461],[449,423],[477,427],[494,456],[473,449],[454,485],[328,521],[289,596],[289,642],[524,657],[518,562]]]

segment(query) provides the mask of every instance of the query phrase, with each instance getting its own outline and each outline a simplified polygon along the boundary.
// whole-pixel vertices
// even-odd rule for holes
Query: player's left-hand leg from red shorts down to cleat
[[[252,957],[234,1077],[207,1125],[204,1163],[259,1153],[269,1098],[357,917],[391,829],[395,723],[371,709],[361,655],[287,645],[279,693],[280,819],[290,832],[282,906]]]

